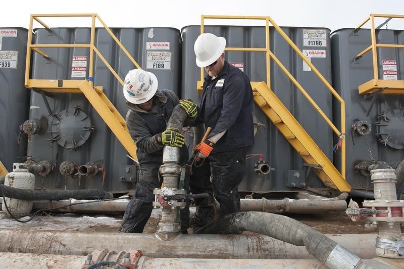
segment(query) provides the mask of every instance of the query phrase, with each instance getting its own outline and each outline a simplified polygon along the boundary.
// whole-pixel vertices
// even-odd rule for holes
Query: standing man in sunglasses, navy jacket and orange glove
[[[194,44],[196,65],[207,72],[195,123],[213,129],[194,148],[205,162],[192,168],[190,179],[192,194],[213,192],[220,203],[220,217],[240,210],[238,185],[245,171],[247,148],[254,144],[250,81],[225,60],[225,46],[225,38],[210,33],[199,35]],[[197,210],[191,225],[204,226],[215,217],[213,200],[195,199]]]

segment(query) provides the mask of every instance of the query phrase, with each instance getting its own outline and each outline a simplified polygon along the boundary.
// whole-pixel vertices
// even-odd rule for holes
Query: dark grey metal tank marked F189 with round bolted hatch
[[[36,44],[89,44],[90,28],[52,28],[35,30]],[[142,69],[153,72],[160,89],[171,89],[179,94],[181,34],[174,28],[112,28],[112,32],[125,46]],[[104,28],[95,30],[95,47],[123,80],[134,65]],[[50,60],[33,54],[32,79],[79,79],[88,77],[88,48],[41,48]],[[80,67],[80,68],[78,68]],[[125,118],[128,108],[121,84],[100,60],[94,56],[95,86],[103,92]],[[58,169],[36,186],[49,189],[96,188],[113,192],[134,189],[137,167],[127,151],[114,136],[103,119],[83,94],[58,93],[43,96],[32,92],[30,119],[45,117],[48,128],[43,135],[33,135],[28,154],[36,160],[49,159],[59,167],[69,161],[75,166],[88,163],[103,168],[94,176],[80,176],[77,171],[60,173]],[[66,163],[65,163],[66,164]]]

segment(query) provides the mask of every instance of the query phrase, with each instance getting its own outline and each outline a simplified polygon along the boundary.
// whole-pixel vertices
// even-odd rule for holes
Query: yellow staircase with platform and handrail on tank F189
[[[32,26],[33,21],[35,20],[39,24],[41,24],[48,31],[52,31],[46,24],[44,24],[39,18],[41,17],[90,17],[92,18],[92,26],[91,26],[91,41],[90,44],[31,44],[32,40]],[[98,21],[104,26],[107,32],[111,35],[111,37],[117,42],[120,48],[124,51],[124,53],[128,56],[128,58],[132,61],[133,65],[136,68],[140,68],[140,66],[136,63],[136,61],[132,58],[129,52],[125,49],[125,47],[121,44],[121,42],[116,38],[116,36],[112,33],[112,31],[105,25],[105,23],[98,17],[97,14],[38,14],[31,15],[30,20],[30,29],[28,31],[28,44],[27,44],[27,62],[25,69],[25,87],[29,89],[41,89],[46,92],[51,93],[82,93],[91,103],[92,107],[94,107],[95,111],[99,114],[99,116],[104,120],[104,122],[108,125],[111,131],[115,134],[121,144],[125,147],[128,153],[132,156],[133,159],[137,160],[136,156],[136,145],[131,138],[128,128],[126,126],[125,119],[118,112],[114,104],[109,100],[107,95],[103,92],[102,86],[93,86],[91,81],[86,79],[84,80],[48,80],[48,79],[30,79],[29,78],[29,70],[30,70],[30,59],[31,52],[34,51],[39,53],[42,57],[49,59],[49,57],[41,51],[40,47],[86,47],[90,49],[90,59],[89,59],[89,77],[93,77],[93,60],[94,53],[98,56],[100,60],[104,62],[107,68],[111,71],[111,73],[115,76],[115,78],[123,85],[122,79],[118,76],[118,74],[113,70],[111,65],[105,60],[105,58],[100,54],[98,49],[94,46],[94,37],[95,37],[95,20]]]

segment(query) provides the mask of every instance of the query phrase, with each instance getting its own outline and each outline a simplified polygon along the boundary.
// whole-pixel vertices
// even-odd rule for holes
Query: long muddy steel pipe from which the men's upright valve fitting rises
[[[352,253],[376,257],[375,234],[327,235]],[[87,255],[97,248],[141,250],[161,258],[314,259],[304,246],[294,246],[268,236],[180,235],[166,242],[154,234],[82,233],[1,229],[0,251]]]

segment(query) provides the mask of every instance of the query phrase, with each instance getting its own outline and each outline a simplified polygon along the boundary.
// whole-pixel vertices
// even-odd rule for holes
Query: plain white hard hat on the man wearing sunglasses
[[[222,55],[226,46],[226,39],[214,34],[200,34],[196,38],[193,50],[196,55],[196,65],[207,67]]]

